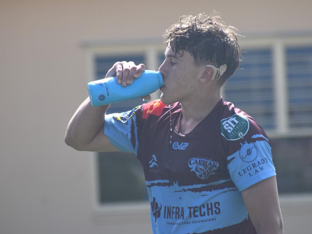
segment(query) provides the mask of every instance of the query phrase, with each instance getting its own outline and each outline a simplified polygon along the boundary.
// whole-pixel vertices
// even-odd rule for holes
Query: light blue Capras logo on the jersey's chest
[[[188,160],[188,167],[191,168],[191,172],[196,173],[198,178],[207,179],[215,173],[219,163],[203,158],[191,158]]]

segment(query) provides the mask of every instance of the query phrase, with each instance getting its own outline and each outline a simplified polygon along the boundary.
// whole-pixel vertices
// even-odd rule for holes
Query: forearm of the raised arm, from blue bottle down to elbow
[[[66,144],[80,150],[90,143],[103,126],[108,107],[109,105],[94,107],[88,97],[68,123],[65,134]]]

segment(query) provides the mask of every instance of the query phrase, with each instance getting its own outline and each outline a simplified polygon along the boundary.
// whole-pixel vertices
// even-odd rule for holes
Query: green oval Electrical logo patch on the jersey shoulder
[[[249,130],[248,120],[240,115],[232,115],[229,118],[221,120],[221,134],[227,140],[235,141],[244,139]]]

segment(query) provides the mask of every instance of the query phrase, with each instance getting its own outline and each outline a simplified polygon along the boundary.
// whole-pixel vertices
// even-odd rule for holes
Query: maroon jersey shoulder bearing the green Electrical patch
[[[224,102],[221,115],[221,134],[229,141],[261,137],[268,141],[261,126],[243,110],[231,102]]]

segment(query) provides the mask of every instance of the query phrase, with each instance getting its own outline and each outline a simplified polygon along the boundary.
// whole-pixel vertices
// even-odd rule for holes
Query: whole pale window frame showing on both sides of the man
[[[273,84],[274,101],[277,110],[275,111],[276,129],[267,131],[270,138],[282,137],[301,137],[311,136],[312,129],[290,129],[288,117],[287,98],[287,74],[285,67],[285,49],[287,46],[312,46],[312,36],[293,37],[293,36],[263,36],[242,38],[240,40],[241,49],[272,49],[273,53]],[[158,70],[158,56],[163,53],[166,45],[161,39],[141,40],[141,41],[93,41],[83,42],[82,50],[85,54],[86,64],[86,82],[95,80],[94,58],[95,56],[116,56],[116,55],[144,55],[146,58],[146,69]],[[278,85],[277,85],[278,84]],[[157,94],[155,94],[157,98]],[[152,96],[152,98],[154,98]],[[98,171],[97,171],[97,153],[90,152],[92,157],[93,172],[93,206],[96,214],[100,216],[119,214],[124,212],[149,212],[149,203],[144,202],[119,202],[118,204],[100,204],[98,201]]]

